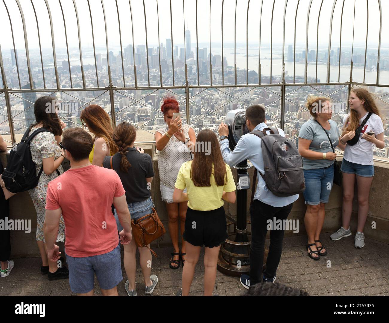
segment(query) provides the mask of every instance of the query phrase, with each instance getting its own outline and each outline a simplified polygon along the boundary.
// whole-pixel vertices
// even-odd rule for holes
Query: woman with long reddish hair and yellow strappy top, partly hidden
[[[89,161],[93,165],[102,166],[105,156],[117,153],[117,146],[112,140],[112,121],[104,109],[96,104],[88,105],[81,112],[81,122],[93,135],[95,141],[89,154]]]

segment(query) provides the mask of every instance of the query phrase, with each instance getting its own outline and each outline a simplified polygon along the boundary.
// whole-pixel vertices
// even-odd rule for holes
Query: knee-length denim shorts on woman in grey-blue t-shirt
[[[319,205],[328,203],[329,193],[334,182],[334,165],[328,168],[304,169],[305,204]]]

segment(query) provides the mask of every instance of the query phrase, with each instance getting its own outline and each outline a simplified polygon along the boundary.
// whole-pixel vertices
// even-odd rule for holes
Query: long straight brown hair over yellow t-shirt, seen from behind
[[[210,154],[201,149],[193,155],[191,166],[191,180],[198,187],[211,186],[212,165],[214,166],[214,177],[217,186],[227,183],[227,170],[221,155],[219,142],[215,133],[210,129],[203,129],[196,138],[196,147],[203,143],[203,147],[208,145]]]

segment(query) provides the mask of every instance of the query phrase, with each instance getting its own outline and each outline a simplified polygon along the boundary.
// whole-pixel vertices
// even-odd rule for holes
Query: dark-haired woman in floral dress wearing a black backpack
[[[46,244],[43,236],[43,224],[46,214],[46,191],[47,184],[63,173],[61,166],[65,159],[63,151],[59,146],[61,142],[62,129],[65,123],[58,119],[55,98],[42,96],[34,105],[35,123],[30,126],[30,134],[39,128],[46,128],[48,131],[38,133],[30,142],[32,160],[36,165],[37,175],[43,165],[43,172],[39,177],[38,185],[29,190],[31,199],[37,211],[37,244],[40,256],[42,257],[42,275],[48,274],[49,280],[65,279],[69,277],[66,267],[58,266],[47,257]],[[65,241],[65,223],[60,220],[57,242]]]

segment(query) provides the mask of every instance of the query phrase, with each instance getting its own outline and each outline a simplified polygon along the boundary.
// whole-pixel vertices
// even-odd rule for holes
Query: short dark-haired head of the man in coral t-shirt
[[[91,135],[81,128],[63,131],[62,145],[72,155],[74,161],[87,159],[93,149]]]

